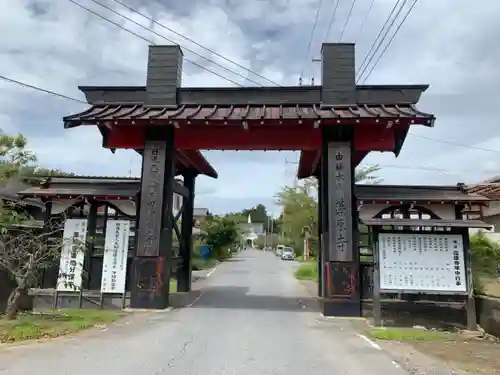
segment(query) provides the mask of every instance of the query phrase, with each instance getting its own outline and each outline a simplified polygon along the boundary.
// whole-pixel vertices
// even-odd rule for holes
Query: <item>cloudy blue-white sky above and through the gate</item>
[[[172,43],[92,0],[73,1],[156,44]],[[244,76],[247,71],[113,0],[98,1],[181,44],[185,59],[248,84],[186,48]],[[340,2],[327,35],[337,0],[122,1],[281,85],[297,85],[302,71],[304,84],[310,83],[310,77],[315,84],[321,83],[320,65],[312,59],[319,57],[323,41],[339,41],[352,6],[352,0]],[[386,42],[412,2],[406,4]],[[341,40],[356,43],[358,68],[396,0],[371,3],[355,2]],[[429,84],[419,108],[435,114],[437,121],[434,128],[412,128],[398,158],[372,153],[364,160],[363,165],[380,165],[378,175],[384,183],[454,185],[500,174],[500,127],[494,111],[500,103],[498,14],[500,2],[496,0],[417,1],[365,84]],[[148,42],[69,0],[0,1],[0,35],[2,76],[80,100],[84,97],[78,85],[145,85]],[[251,78],[268,84],[257,76]],[[189,63],[184,64],[182,84],[234,85]],[[103,149],[96,128],[63,129],[63,116],[85,108],[0,80],[0,128],[6,134],[26,135],[41,166],[85,175],[139,176],[139,156],[132,151],[112,154]],[[204,151],[204,155],[219,178],[198,178],[195,205],[215,213],[259,203],[277,213],[274,196],[283,185],[293,184],[298,161],[295,152]]]

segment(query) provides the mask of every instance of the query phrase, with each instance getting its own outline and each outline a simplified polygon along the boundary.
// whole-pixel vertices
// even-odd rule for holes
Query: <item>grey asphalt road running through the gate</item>
[[[406,374],[346,321],[321,318],[293,278],[295,267],[247,250],[201,282],[191,307],[0,349],[0,374]]]

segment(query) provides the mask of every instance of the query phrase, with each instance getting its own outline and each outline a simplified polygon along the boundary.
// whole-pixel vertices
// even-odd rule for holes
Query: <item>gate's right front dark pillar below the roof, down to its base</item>
[[[323,129],[320,196],[325,316],[361,315],[353,138],[352,127]]]

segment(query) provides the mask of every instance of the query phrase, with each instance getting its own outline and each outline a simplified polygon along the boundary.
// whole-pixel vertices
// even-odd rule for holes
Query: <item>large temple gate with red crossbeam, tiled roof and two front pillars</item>
[[[168,305],[179,153],[206,173],[200,149],[300,150],[299,178],[320,182],[323,312],[361,314],[354,168],[370,151],[398,155],[409,127],[433,126],[434,116],[415,107],[426,85],[357,86],[354,50],[323,44],[321,86],[183,88],[181,49],[155,45],[146,86],[80,87],[91,106],[65,117],[65,127],[97,126],[104,147],[143,155],[132,307]],[[191,188],[195,175],[184,176]]]

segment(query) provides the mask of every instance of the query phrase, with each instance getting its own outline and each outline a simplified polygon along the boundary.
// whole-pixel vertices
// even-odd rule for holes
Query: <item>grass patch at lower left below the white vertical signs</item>
[[[110,310],[61,309],[21,314],[16,320],[0,319],[0,342],[53,338],[100,324],[112,323],[125,313]]]

